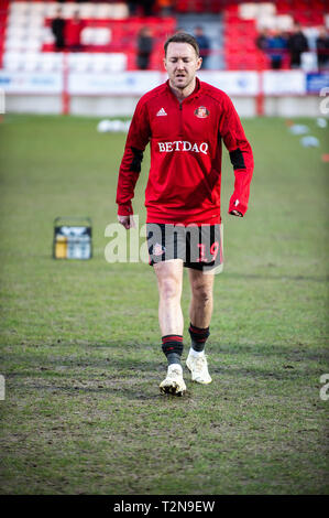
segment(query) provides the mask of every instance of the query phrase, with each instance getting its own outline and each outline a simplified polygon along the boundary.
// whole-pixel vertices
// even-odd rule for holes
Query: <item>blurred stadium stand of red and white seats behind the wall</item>
[[[152,31],[153,52],[150,69],[162,69],[162,48],[167,35],[177,28],[193,32],[202,24],[211,42],[208,68],[271,68],[268,53],[256,45],[260,31],[283,31],[288,34],[299,22],[315,48],[321,26],[329,26],[326,0],[277,0],[275,2],[240,2],[229,0],[176,0],[169,2],[174,15],[163,17],[155,2],[153,15],[141,10],[131,17],[128,2],[53,2],[8,1],[0,3],[0,66],[8,71],[56,71],[62,66],[55,52],[51,30],[58,7],[66,21],[76,10],[84,22],[80,51],[72,55],[68,66],[75,71],[120,72],[136,69],[136,41],[142,28]],[[61,53],[59,53],[61,54]],[[282,68],[289,68],[285,53]],[[316,66],[311,64],[310,66]]]

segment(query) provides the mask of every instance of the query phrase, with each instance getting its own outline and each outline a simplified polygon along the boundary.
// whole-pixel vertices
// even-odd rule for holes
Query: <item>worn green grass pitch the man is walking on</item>
[[[6,116],[1,152],[1,494],[325,494],[329,131],[245,120],[250,209],[228,216],[208,341],[210,386],[160,395],[166,370],[147,265],[105,260],[123,134],[97,120]],[[134,201],[144,222],[149,152]],[[52,259],[53,219],[88,215],[90,261]],[[183,310],[188,341],[189,288]]]

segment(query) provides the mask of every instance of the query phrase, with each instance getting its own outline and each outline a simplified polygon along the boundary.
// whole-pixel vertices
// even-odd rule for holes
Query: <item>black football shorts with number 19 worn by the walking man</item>
[[[171,225],[147,223],[150,265],[182,259],[186,268],[201,271],[221,270],[221,225]]]

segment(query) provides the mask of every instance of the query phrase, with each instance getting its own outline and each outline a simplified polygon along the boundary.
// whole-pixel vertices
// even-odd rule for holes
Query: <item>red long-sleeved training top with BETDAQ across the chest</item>
[[[120,166],[119,215],[133,214],[131,199],[150,142],[147,223],[220,223],[221,141],[235,175],[229,213],[244,215],[253,155],[231,99],[198,78],[194,93],[182,102],[168,80],[145,94],[135,108]]]

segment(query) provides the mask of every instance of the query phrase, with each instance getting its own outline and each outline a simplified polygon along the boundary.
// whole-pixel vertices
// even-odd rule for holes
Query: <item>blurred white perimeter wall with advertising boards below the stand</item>
[[[200,72],[201,80],[223,89],[241,117],[317,117],[329,94],[329,73]],[[166,80],[162,72],[113,74],[8,73],[0,71],[7,112],[130,117],[138,99]]]

